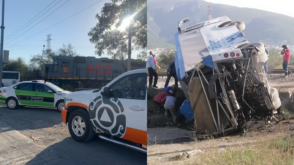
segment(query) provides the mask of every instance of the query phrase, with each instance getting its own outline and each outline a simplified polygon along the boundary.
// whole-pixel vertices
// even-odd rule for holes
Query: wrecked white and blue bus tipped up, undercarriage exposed
[[[187,98],[180,112],[199,132],[226,134],[276,121],[281,100],[270,88],[263,64],[263,43],[249,43],[244,22],[227,16],[188,28],[179,22],[175,65]]]

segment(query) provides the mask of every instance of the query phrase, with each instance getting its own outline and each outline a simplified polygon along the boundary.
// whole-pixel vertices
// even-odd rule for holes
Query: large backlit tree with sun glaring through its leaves
[[[130,59],[132,50],[147,48],[146,0],[111,0],[96,19],[88,35],[98,56],[106,50],[112,58],[124,59],[128,54]]]

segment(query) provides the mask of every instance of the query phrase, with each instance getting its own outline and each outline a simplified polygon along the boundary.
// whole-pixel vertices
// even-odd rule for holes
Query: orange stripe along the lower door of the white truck
[[[123,139],[147,145],[147,131],[126,127],[126,134]]]

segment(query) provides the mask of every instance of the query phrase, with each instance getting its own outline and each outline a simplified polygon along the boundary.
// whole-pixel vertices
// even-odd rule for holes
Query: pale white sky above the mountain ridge
[[[294,1],[279,0],[205,0],[206,2],[219,3],[225,5],[232,5],[237,7],[247,7],[260,10],[266,10],[274,13],[284,14],[294,17],[294,11],[291,7],[294,5]],[[213,10],[213,6],[212,6]]]

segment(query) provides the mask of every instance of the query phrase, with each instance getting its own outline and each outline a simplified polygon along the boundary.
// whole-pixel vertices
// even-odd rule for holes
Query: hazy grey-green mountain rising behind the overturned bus
[[[269,2],[270,3],[270,2]],[[253,4],[254,5],[254,4]],[[174,48],[177,24],[189,17],[188,27],[208,20],[208,2],[202,0],[148,0],[147,48]],[[232,21],[245,22],[243,33],[249,42],[294,45],[294,17],[264,10],[212,4],[212,16],[228,16]],[[284,42],[287,41],[287,42]]]

